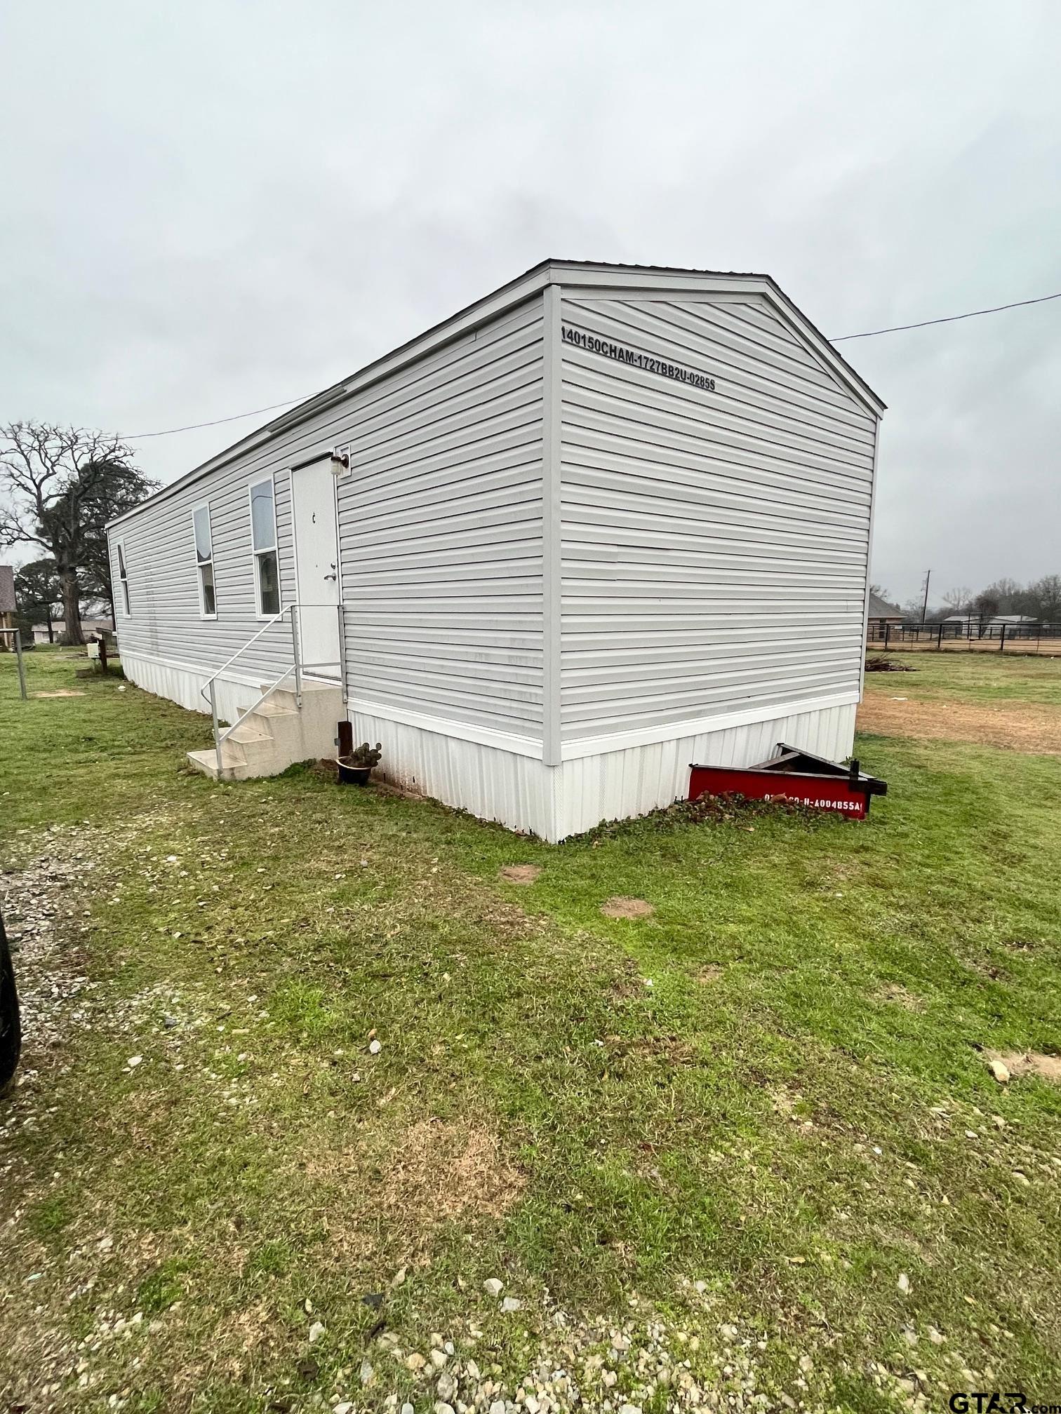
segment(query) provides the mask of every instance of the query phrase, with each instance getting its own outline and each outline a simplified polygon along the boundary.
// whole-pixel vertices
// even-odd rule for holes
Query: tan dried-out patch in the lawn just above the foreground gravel
[[[379,1202],[427,1229],[465,1213],[504,1217],[525,1186],[497,1134],[470,1120],[417,1120],[390,1151]]]

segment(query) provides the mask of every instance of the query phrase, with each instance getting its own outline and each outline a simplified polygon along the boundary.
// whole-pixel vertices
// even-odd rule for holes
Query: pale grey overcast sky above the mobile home
[[[829,335],[1061,290],[1055,0],[7,0],[0,52],[0,421],[308,396],[547,255],[768,271]],[[840,348],[874,580],[1061,570],[1061,300]]]

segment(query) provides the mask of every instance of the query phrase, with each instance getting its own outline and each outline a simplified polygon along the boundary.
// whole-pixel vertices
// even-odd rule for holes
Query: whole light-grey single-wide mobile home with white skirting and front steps
[[[279,682],[225,776],[348,717],[547,840],[843,758],[883,406],[768,276],[543,262],[115,520],[124,673],[229,723]]]

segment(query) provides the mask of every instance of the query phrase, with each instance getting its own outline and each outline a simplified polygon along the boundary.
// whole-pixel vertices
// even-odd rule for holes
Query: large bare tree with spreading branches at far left
[[[0,427],[0,544],[38,544],[55,560],[71,643],[85,642],[78,575],[103,532],[100,508],[115,488],[133,503],[151,489],[132,457],[108,433],[51,423]]]

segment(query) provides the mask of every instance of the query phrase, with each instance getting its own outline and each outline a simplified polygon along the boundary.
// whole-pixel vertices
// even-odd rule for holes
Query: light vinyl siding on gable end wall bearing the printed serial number
[[[853,700],[874,413],[763,297],[562,320],[716,386],[563,344],[564,740]]]

